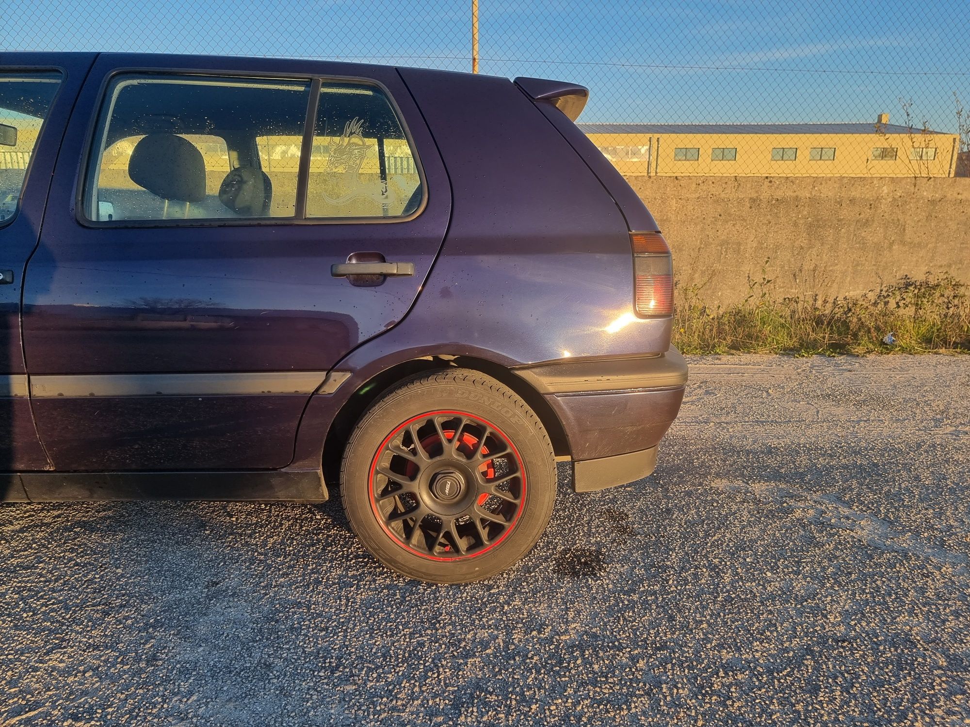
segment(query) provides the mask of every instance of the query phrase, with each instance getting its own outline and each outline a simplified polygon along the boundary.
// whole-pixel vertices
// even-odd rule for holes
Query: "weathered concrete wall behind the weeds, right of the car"
[[[681,285],[729,304],[765,260],[779,298],[862,293],[927,270],[970,283],[970,178],[628,177]]]

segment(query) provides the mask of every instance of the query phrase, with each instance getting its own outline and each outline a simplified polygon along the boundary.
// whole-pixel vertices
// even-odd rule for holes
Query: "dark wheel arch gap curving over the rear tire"
[[[340,459],[343,457],[343,449],[350,432],[381,394],[404,381],[404,379],[422,371],[449,367],[469,368],[484,373],[508,387],[535,412],[535,416],[539,418],[539,422],[542,423],[549,435],[555,455],[557,457],[568,457],[570,455],[569,442],[563,423],[545,398],[525,379],[517,376],[501,364],[480,357],[436,354],[388,366],[358,386],[353,394],[347,397],[327,430],[327,436],[324,440],[324,480],[334,484],[339,482]]]

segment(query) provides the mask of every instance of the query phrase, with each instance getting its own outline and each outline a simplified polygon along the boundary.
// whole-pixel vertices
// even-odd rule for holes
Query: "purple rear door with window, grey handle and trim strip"
[[[78,108],[24,293],[54,466],[285,466],[309,395],[404,317],[444,237],[447,179],[402,80],[106,54]],[[383,262],[404,274],[333,274]]]

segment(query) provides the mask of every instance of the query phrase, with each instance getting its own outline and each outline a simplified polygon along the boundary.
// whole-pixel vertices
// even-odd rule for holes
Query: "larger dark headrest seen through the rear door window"
[[[175,134],[149,134],[135,144],[128,176],[163,200],[206,199],[206,163],[192,142]]]

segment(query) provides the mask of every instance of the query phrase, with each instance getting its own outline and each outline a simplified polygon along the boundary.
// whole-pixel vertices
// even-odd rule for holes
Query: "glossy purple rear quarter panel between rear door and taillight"
[[[319,461],[348,396],[409,359],[473,356],[513,367],[669,346],[669,319],[632,314],[624,215],[542,111],[508,79],[401,74],[448,172],[448,233],[404,321],[339,363],[351,372],[339,395],[311,398],[293,466]]]

